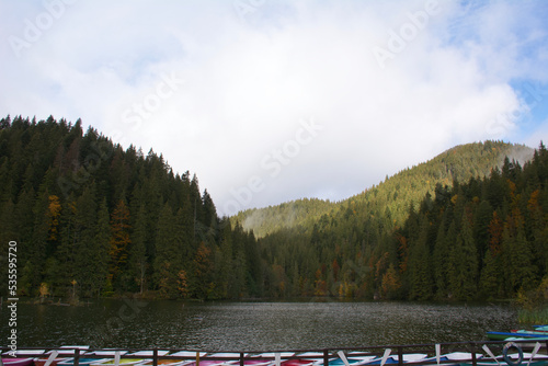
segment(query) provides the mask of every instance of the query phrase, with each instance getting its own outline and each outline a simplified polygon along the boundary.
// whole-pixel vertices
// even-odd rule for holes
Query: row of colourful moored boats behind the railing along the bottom
[[[536,341],[536,339],[535,339]],[[493,350],[500,350],[501,342]],[[127,351],[90,350],[88,346],[65,346],[56,350],[19,350],[4,352],[3,366],[362,366],[362,365],[458,365],[458,366],[548,366],[547,342],[536,342],[533,352],[523,353],[514,342],[507,343],[495,356],[487,343],[459,343],[469,352],[442,353],[442,345],[373,346],[358,351],[270,352],[270,353],[206,353],[202,351]],[[543,345],[545,348],[541,351]],[[434,346],[434,347],[433,347]],[[447,347],[447,344],[445,344]],[[455,347],[453,347],[455,348]],[[4,348],[5,350],[5,348]],[[419,351],[419,350],[418,350]],[[433,351],[433,352],[432,352]],[[476,353],[475,351],[480,351]],[[2,365],[0,365],[2,366]]]

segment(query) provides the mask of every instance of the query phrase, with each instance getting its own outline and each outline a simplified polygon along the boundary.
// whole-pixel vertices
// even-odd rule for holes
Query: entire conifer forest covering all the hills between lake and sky
[[[340,203],[229,219],[195,175],[81,124],[0,121],[0,262],[16,241],[20,295],[467,300],[547,276],[543,145],[470,144]]]

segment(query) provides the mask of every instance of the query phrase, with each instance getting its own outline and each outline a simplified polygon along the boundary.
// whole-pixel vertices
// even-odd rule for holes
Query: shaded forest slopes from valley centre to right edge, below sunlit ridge
[[[271,289],[367,299],[515,297],[547,276],[547,180],[540,146],[523,169],[505,159],[489,176],[437,184],[408,205],[402,225],[388,210],[350,201],[311,233],[297,227],[260,239],[273,263]]]

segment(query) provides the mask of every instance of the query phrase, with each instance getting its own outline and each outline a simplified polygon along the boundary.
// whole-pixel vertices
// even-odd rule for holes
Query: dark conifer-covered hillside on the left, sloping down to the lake
[[[253,235],[152,150],[123,150],[81,121],[7,117],[0,182],[1,268],[16,241],[20,295],[261,295]]]

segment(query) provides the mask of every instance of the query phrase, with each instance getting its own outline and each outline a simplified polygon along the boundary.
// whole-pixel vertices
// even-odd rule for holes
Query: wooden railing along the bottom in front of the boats
[[[512,341],[516,346],[515,350],[520,352],[530,352],[536,346],[536,355],[533,358],[534,362],[545,362],[546,366],[548,366],[548,341],[541,340],[537,341],[535,339],[532,340],[521,340],[521,341]],[[317,348],[317,350],[276,350],[276,351],[206,351],[206,350],[180,350],[180,348],[147,348],[147,350],[129,350],[129,348],[109,348],[109,350],[92,350],[92,348],[69,348],[69,347],[19,347],[19,350],[25,350],[24,354],[19,354],[16,357],[48,357],[52,352],[62,352],[57,357],[59,358],[73,358],[73,366],[79,366],[80,359],[82,356],[85,358],[115,358],[115,355],[123,358],[144,358],[148,359],[148,366],[158,366],[159,361],[161,359],[173,359],[174,362],[189,361],[189,364],[195,363],[194,366],[199,366],[201,363],[205,361],[218,361],[219,364],[230,363],[230,365],[244,366],[247,361],[250,359],[264,359],[272,361],[272,365],[275,365],[276,358],[277,362],[282,364],[287,361],[294,359],[310,359],[310,364],[316,361],[318,364],[329,365],[329,362],[335,358],[341,358],[341,352],[343,353],[344,358],[347,357],[359,357],[359,356],[377,356],[377,361],[383,356],[398,356],[398,366],[409,365],[409,366],[420,366],[420,365],[446,365],[446,364],[469,364],[472,366],[478,365],[479,357],[477,355],[481,355],[482,362],[493,362],[496,365],[495,361],[491,357],[492,355],[498,355],[496,357],[499,364],[501,366],[506,366],[507,364],[502,359],[502,352],[504,351],[504,345],[507,345],[507,341],[480,341],[480,342],[456,342],[456,343],[438,343],[438,344],[412,344],[412,345],[378,345],[378,346],[364,346],[364,347],[339,347],[339,348]],[[10,358],[11,350],[10,347],[0,347],[2,351],[2,358],[8,361]],[[43,352],[39,352],[39,351]],[[161,354],[159,351],[163,351]],[[389,350],[389,351],[387,351]],[[36,351],[36,353],[32,353],[32,351]],[[109,351],[109,354],[95,354],[94,352],[105,352]],[[146,356],[144,356],[142,351],[148,352]],[[168,352],[164,354],[164,352]],[[187,351],[192,352],[192,355],[178,355],[173,356],[173,353]],[[138,356],[132,355],[135,352],[140,352]],[[448,361],[437,361],[436,355],[443,356],[444,354],[461,352],[470,354],[470,358],[467,359],[448,359]],[[229,353],[230,356],[214,356],[218,353]],[[293,356],[287,356],[288,353],[294,354]],[[313,356],[299,356],[304,353],[313,353]],[[16,353],[15,353],[16,354]],[[150,356],[148,356],[150,354]],[[205,355],[202,355],[205,354]],[[233,354],[233,355],[232,355]],[[269,356],[264,356],[264,354],[270,354]],[[284,354],[284,357],[276,357],[276,354]],[[404,355],[409,354],[425,354],[426,358],[404,362]],[[261,356],[262,355],[262,356]],[[274,355],[274,356],[271,356]],[[344,356],[346,355],[346,356]],[[529,358],[523,357],[520,364],[528,365]],[[8,362],[5,362],[8,364]],[[352,365],[352,363],[351,363]],[[396,365],[396,364],[391,364]],[[0,365],[2,366],[2,365]],[[4,365],[4,366],[9,366]],[[282,365],[283,366],[283,365]]]

